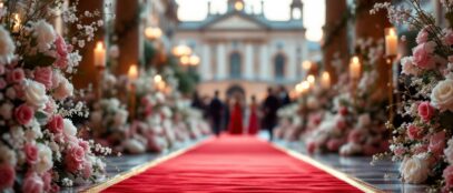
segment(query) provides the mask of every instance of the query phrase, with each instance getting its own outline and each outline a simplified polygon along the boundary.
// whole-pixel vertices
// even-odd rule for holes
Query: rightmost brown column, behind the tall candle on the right
[[[363,11],[357,13],[355,20],[355,34],[356,39],[373,38],[374,40],[384,39],[384,29],[391,27],[385,11],[380,11],[376,14],[370,14],[370,9],[376,2],[390,2],[390,0],[358,0],[358,6]],[[380,88],[386,89],[388,82],[388,68],[391,68],[385,59],[376,63],[378,70]]]

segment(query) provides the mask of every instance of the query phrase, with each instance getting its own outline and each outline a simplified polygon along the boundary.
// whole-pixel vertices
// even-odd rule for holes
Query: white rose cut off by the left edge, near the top
[[[9,32],[0,26],[0,63],[10,63],[14,58],[16,45]]]

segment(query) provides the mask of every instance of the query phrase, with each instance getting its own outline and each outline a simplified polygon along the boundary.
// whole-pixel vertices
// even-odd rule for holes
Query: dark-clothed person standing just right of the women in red
[[[269,141],[274,139],[274,128],[277,124],[277,111],[280,106],[280,101],[274,93],[272,88],[267,88],[267,96],[263,103],[264,128],[269,132]]]

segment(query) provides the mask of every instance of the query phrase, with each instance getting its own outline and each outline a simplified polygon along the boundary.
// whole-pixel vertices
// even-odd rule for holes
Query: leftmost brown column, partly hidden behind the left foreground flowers
[[[104,1],[102,0],[95,0],[95,1],[79,1],[78,10],[87,10],[93,12],[96,10],[104,11]],[[87,22],[93,22],[100,20],[102,18],[95,18]],[[76,27],[70,27],[69,30],[77,31]],[[95,33],[93,41],[86,42],[83,49],[81,50],[82,60],[80,65],[78,67],[78,72],[75,74],[72,81],[73,85],[77,89],[87,88],[89,84],[92,84],[93,88],[98,87],[99,73],[95,67],[95,47],[97,41],[104,41],[105,29],[99,28],[98,31]]]

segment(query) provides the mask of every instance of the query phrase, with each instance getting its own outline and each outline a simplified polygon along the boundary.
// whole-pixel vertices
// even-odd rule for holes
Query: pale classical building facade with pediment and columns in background
[[[301,63],[313,54],[305,39],[302,1],[292,2],[287,21],[266,19],[264,2],[260,13],[246,12],[243,0],[227,3],[225,13],[208,11],[205,20],[183,21],[176,30],[175,42],[189,45],[201,59],[199,93],[219,90],[263,99],[269,85],[301,81]]]

